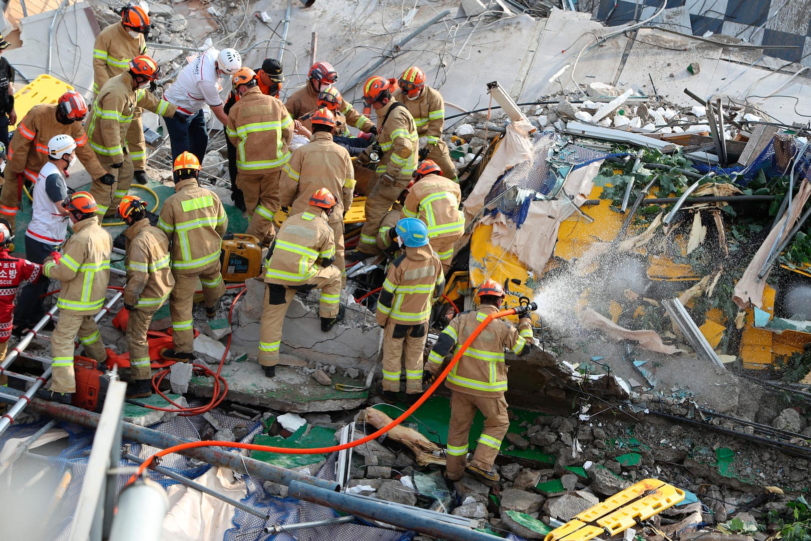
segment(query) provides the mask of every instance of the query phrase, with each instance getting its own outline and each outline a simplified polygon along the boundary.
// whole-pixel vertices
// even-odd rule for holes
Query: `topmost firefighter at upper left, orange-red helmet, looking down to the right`
[[[146,36],[149,33],[149,15],[141,6],[125,6],[121,22],[110,24],[99,32],[93,44],[93,94],[97,95],[110,77],[127,71],[130,61],[139,54],[147,54]],[[142,109],[135,107],[127,131],[127,149],[130,151],[134,180],[147,183],[144,166],[147,162]]]

